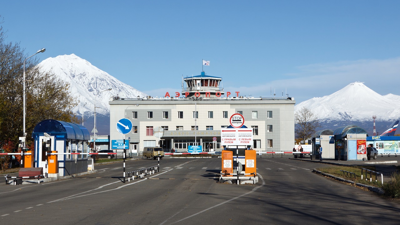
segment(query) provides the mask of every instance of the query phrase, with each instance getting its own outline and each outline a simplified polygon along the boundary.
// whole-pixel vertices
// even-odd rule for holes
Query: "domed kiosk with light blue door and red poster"
[[[364,160],[367,157],[368,133],[356,125],[338,127],[334,132],[335,151],[343,160]],[[323,152],[323,151],[322,151]],[[323,157],[322,157],[323,159]]]

